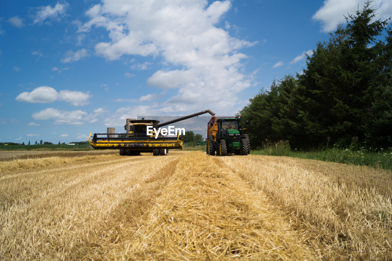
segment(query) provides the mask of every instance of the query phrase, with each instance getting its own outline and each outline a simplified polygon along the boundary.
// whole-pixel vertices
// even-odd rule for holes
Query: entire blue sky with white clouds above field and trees
[[[372,5],[377,19],[392,14],[390,0]],[[107,127],[124,132],[125,120],[138,116],[205,109],[234,116],[274,79],[301,73],[305,54],[358,7],[363,2],[0,1],[0,142],[84,141]],[[205,137],[204,124],[181,127]]]

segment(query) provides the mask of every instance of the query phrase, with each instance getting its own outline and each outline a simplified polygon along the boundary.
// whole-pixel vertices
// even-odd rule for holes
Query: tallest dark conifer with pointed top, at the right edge
[[[298,122],[312,145],[330,137],[346,144],[352,137],[364,138],[364,126],[372,120],[372,103],[388,81],[392,37],[387,20],[374,21],[375,10],[366,3],[346,18],[331,34],[329,42],[319,42],[307,68],[299,75],[301,102]],[[387,44],[377,40],[387,32]]]

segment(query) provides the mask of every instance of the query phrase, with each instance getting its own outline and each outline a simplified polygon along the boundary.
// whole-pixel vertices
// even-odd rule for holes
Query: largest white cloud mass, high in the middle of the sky
[[[96,44],[95,54],[107,60],[123,55],[162,56],[163,68],[152,74],[147,84],[177,88],[171,103],[197,101],[219,106],[222,101],[220,108],[225,110],[252,84],[252,76],[241,70],[247,56],[239,50],[256,44],[216,27],[230,7],[230,1],[103,1],[86,11],[89,21],[78,31],[104,27],[110,41]],[[132,66],[147,69],[149,64]]]

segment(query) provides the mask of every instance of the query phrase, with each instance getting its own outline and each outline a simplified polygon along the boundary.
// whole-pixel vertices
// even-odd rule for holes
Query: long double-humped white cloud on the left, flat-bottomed
[[[62,90],[57,92],[54,88],[41,86],[31,92],[22,92],[15,100],[30,103],[53,103],[54,101],[66,101],[74,106],[82,106],[89,103],[89,92]]]

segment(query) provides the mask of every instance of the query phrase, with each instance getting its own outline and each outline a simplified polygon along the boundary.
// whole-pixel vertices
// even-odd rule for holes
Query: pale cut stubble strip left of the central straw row
[[[136,231],[178,158],[98,157],[0,174],[3,259],[102,259]]]

